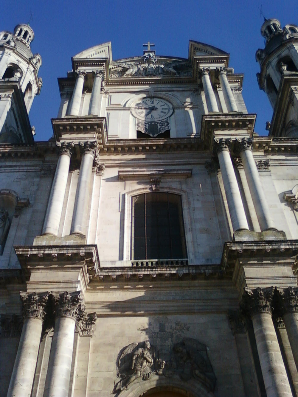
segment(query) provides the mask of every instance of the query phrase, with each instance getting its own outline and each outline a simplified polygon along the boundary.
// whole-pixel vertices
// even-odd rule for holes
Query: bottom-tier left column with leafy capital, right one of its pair
[[[68,396],[75,323],[84,315],[80,292],[54,295],[55,327],[44,397]]]

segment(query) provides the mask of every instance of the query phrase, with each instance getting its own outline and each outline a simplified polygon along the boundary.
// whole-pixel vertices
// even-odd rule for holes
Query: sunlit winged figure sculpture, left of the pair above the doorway
[[[149,341],[131,343],[125,347],[117,360],[117,376],[122,379],[115,385],[114,393],[127,388],[137,378],[149,379],[156,371],[157,361],[157,352]]]

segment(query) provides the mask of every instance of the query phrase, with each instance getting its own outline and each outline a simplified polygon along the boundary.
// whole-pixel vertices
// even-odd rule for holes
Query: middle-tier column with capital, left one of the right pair
[[[223,177],[224,191],[232,221],[233,231],[249,229],[240,196],[238,182],[230,156],[230,139],[215,139],[215,152],[219,159],[219,166]]]

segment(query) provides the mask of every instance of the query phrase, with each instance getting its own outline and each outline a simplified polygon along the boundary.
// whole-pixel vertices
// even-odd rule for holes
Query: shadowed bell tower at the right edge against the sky
[[[277,19],[261,26],[265,48],[256,52],[257,79],[273,107],[269,135],[298,137],[298,27],[281,27]]]

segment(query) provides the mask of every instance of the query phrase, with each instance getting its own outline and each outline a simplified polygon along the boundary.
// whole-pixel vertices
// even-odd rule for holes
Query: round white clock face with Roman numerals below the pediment
[[[172,106],[160,98],[143,98],[132,106],[133,116],[146,122],[166,119],[172,112]]]

